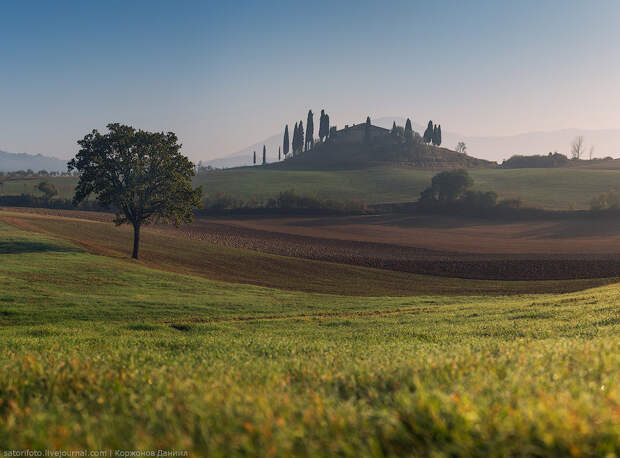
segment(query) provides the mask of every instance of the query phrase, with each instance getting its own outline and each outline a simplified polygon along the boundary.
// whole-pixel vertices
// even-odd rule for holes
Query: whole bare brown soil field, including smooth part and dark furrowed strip
[[[111,215],[28,210],[110,221]],[[620,221],[494,223],[445,217],[198,219],[153,234],[219,247],[411,274],[540,281],[620,277]]]

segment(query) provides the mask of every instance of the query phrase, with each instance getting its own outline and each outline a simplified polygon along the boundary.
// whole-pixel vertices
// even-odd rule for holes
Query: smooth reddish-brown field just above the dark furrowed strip
[[[204,220],[203,220],[204,221]],[[308,237],[383,243],[442,253],[500,255],[620,254],[620,219],[565,218],[495,222],[445,216],[330,216],[206,220]]]

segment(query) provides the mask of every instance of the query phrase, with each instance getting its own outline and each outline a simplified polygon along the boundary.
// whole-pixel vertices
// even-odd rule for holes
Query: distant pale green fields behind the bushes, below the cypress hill
[[[238,198],[269,198],[295,189],[335,200],[368,203],[417,200],[436,173],[411,168],[379,167],[359,170],[309,171],[245,167],[201,175],[196,184],[205,192],[226,192]],[[473,169],[476,188],[494,190],[500,198],[521,197],[527,206],[547,209],[586,209],[590,200],[610,188],[620,188],[620,170],[587,168],[560,169]],[[0,194],[36,193],[40,179],[8,181]],[[73,195],[75,178],[50,178],[61,197]]]

